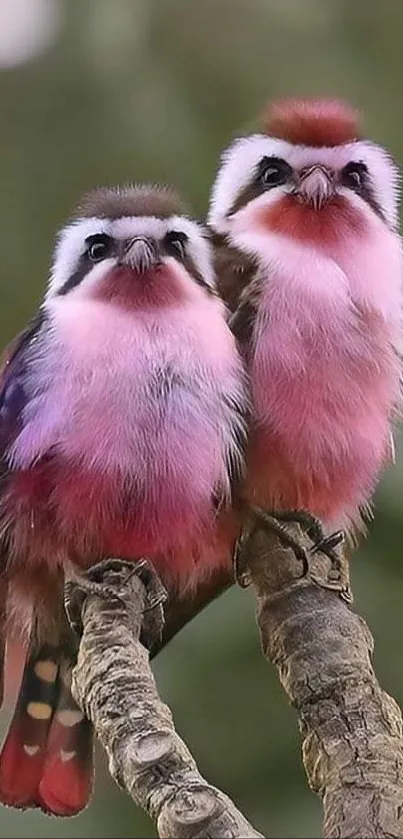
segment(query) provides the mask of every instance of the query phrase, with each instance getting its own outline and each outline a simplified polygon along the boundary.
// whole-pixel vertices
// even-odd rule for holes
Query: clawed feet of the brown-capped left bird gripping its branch
[[[142,615],[140,640],[148,649],[160,640],[164,628],[163,604],[167,592],[152,564],[146,559],[124,560],[104,559],[88,571],[75,574],[66,580],[64,605],[73,631],[81,637],[83,632],[82,613],[86,598],[94,594],[103,600],[129,605],[128,582],[136,575],[146,589],[146,602]]]

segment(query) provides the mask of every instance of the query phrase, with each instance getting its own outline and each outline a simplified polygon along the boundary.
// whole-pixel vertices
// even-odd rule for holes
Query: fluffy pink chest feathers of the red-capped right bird
[[[332,526],[358,519],[370,499],[400,398],[400,273],[372,288],[366,279],[363,293],[333,260],[283,255],[262,283],[253,336],[250,493]],[[380,282],[393,286],[386,314]]]

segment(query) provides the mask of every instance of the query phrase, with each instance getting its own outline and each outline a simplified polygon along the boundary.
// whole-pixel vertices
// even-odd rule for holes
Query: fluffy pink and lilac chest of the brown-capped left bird
[[[51,319],[10,453],[21,510],[33,505],[41,539],[59,534],[80,561],[196,541],[241,457],[243,384],[221,303],[136,313],[63,301]]]

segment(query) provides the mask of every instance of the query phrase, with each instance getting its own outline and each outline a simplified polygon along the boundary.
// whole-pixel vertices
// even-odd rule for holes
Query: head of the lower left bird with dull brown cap
[[[47,299],[95,298],[126,308],[215,293],[205,231],[155,186],[89,193],[61,231]]]

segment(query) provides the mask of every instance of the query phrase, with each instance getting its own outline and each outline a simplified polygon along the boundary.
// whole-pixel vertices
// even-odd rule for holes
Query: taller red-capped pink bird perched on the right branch
[[[400,173],[361,123],[339,99],[269,103],[223,152],[207,217],[251,385],[245,497],[349,546],[402,408]]]

